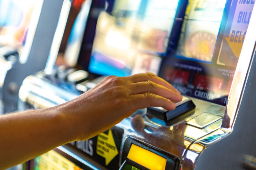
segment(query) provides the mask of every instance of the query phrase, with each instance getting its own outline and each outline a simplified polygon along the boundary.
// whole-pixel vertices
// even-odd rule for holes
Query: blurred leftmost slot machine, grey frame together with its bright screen
[[[70,1],[0,3],[0,114],[5,114],[17,110],[25,77],[44,69],[53,58],[49,53],[56,42],[52,41],[61,36],[55,32],[61,34],[65,27],[63,14],[69,12]]]

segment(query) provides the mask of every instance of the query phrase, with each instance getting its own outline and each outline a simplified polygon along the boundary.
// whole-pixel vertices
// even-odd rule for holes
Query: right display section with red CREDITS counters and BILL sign
[[[221,104],[227,98],[254,1],[189,1],[177,48],[160,76],[182,94]]]

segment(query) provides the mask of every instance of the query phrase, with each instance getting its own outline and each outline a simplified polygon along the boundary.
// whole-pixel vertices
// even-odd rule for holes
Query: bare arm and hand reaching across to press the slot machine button
[[[61,105],[0,116],[0,169],[106,131],[137,109],[175,109],[182,96],[152,73],[109,76]]]

